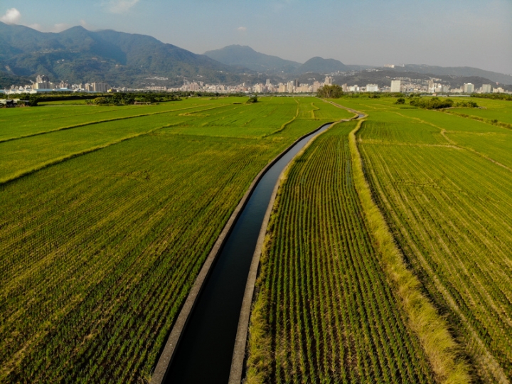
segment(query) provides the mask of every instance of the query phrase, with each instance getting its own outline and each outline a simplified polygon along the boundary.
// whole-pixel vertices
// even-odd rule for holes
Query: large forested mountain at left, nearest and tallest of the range
[[[11,76],[42,74],[50,80],[127,86],[181,85],[184,79],[239,82],[244,72],[151,36],[81,26],[41,33],[5,23],[0,23],[0,70]]]

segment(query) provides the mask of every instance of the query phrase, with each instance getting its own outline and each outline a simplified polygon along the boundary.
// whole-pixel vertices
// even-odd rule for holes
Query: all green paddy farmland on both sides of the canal
[[[150,380],[253,178],[353,117],[313,97],[259,100],[0,110],[0,383]],[[512,102],[395,100],[328,100],[368,116],[290,166],[247,384],[512,380],[512,129],[490,121],[510,122]]]

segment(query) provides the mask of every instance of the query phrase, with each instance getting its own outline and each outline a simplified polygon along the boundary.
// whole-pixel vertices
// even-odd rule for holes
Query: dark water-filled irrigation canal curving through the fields
[[[164,383],[226,384],[252,255],[279,175],[325,124],[299,140],[260,178],[204,283]]]

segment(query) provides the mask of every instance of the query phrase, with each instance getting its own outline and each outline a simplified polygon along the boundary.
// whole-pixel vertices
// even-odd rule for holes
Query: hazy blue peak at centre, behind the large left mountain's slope
[[[227,65],[249,68],[257,72],[294,73],[300,63],[284,60],[277,56],[256,52],[248,46],[227,46],[220,49],[208,50],[204,55]]]

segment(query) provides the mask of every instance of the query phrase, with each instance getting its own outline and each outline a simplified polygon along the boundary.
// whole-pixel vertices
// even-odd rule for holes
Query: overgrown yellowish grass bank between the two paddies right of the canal
[[[422,344],[439,383],[471,383],[469,366],[459,357],[459,348],[449,326],[437,313],[432,303],[420,291],[420,280],[407,270],[403,255],[380,212],[363,171],[363,161],[356,143],[356,132],[365,120],[348,134],[351,151],[354,185],[366,216],[375,245],[382,257],[383,270],[393,282],[401,304],[405,309],[409,326]]]

